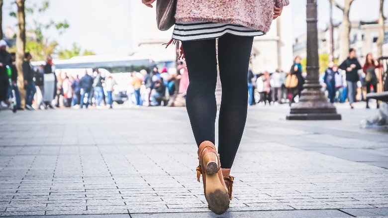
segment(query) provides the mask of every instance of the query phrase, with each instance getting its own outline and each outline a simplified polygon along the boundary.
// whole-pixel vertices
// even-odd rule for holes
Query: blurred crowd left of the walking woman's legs
[[[185,99],[189,86],[189,76],[185,62],[180,62],[177,73],[170,74],[167,67],[154,67],[151,72],[125,73],[120,79],[114,74],[103,75],[99,69],[85,70],[83,75],[53,72],[49,58],[44,65],[33,67],[32,56],[26,53],[23,61],[25,108],[27,110],[49,108],[113,108],[113,103],[123,104],[129,100],[136,106],[167,106],[179,95]],[[10,70],[7,70],[9,66]],[[9,75],[8,75],[9,71]],[[123,84],[123,81],[125,82]],[[17,86],[15,54],[6,51],[5,41],[0,41],[0,108],[8,108],[11,94],[14,95],[16,109],[21,108],[20,87]],[[13,91],[13,92],[12,92]]]

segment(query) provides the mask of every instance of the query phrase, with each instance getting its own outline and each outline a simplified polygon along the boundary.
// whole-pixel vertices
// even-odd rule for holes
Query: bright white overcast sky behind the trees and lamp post
[[[31,3],[41,3],[43,0],[26,0]],[[129,31],[130,15],[129,1],[133,0],[51,0],[50,8],[42,15],[36,16],[40,22],[50,19],[61,21],[66,19],[70,28],[66,33],[57,35],[51,31],[50,39],[55,39],[63,48],[70,48],[77,42],[83,49],[92,50],[97,54],[122,54],[130,52],[131,34]],[[140,0],[139,0],[140,1]],[[292,7],[292,37],[306,32],[306,0],[290,0]],[[337,0],[344,2],[344,0]],[[385,2],[385,15],[388,16],[388,1]],[[5,1],[3,6],[3,28],[16,25],[16,19],[10,17],[10,11],[15,10],[11,1]],[[352,4],[350,19],[352,21],[373,21],[378,19],[379,0],[355,0]],[[26,17],[31,24],[31,17]],[[141,17],[139,17],[141,19]],[[325,28],[329,22],[328,0],[318,1],[318,26]],[[342,12],[334,9],[334,20],[342,20]],[[15,28],[16,29],[16,28]]]

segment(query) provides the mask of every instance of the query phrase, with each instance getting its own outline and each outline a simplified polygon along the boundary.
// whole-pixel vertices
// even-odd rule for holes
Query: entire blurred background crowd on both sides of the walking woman
[[[32,56],[27,52],[23,61],[23,87],[17,85],[15,54],[6,51],[6,42],[0,40],[0,108],[8,108],[11,94],[14,95],[16,109],[21,108],[19,89],[25,90],[25,109],[48,109],[55,107],[113,108],[116,104],[129,103],[136,106],[174,106],[177,97],[185,106],[189,86],[188,69],[180,62],[175,73],[169,73],[167,67],[126,73],[122,84],[114,79],[114,74],[103,75],[99,69],[85,70],[83,75],[66,72],[53,72],[50,58],[45,65],[33,67]],[[289,72],[277,70],[274,73],[254,74],[248,72],[249,105],[277,105],[297,102],[303,90],[306,73],[303,72],[300,57],[294,59]],[[349,57],[340,65],[330,62],[320,82],[322,91],[331,103],[354,103],[369,99],[366,94],[381,89],[380,63],[367,54],[363,66],[357,60],[356,51],[350,49]],[[113,75],[113,76],[112,76]],[[118,84],[121,83],[121,84]],[[33,107],[34,106],[34,107]],[[379,107],[379,105],[377,105]]]

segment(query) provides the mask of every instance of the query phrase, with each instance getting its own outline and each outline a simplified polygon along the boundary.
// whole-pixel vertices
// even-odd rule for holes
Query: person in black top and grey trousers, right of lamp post
[[[357,82],[359,81],[358,70],[362,69],[354,48],[349,49],[349,57],[342,62],[339,68],[346,71],[349,104],[350,108],[353,109],[356,100]]]

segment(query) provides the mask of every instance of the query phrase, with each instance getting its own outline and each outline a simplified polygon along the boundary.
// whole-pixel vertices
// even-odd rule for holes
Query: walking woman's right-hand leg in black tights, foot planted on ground
[[[247,77],[252,43],[253,37],[230,34],[218,40],[218,61],[222,84],[218,153],[222,168],[232,167],[244,132],[248,108]]]

